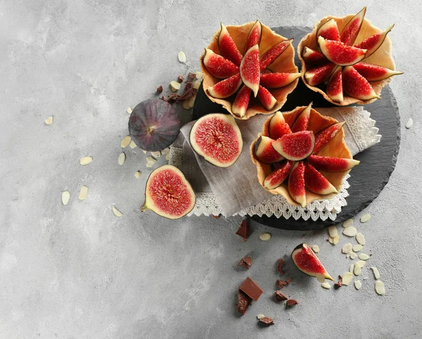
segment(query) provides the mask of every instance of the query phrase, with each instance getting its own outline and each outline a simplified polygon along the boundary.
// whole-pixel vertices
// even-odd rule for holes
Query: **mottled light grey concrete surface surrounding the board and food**
[[[294,281],[285,291],[300,305],[286,310],[271,300],[276,259],[302,241],[318,244],[336,276],[349,267],[340,254],[349,239],[333,247],[325,231],[303,236],[255,224],[242,243],[234,235],[240,218],[141,214],[151,169],[136,148],[117,164],[125,110],[198,70],[220,21],[312,26],[363,6],[378,27],[396,23],[393,54],[405,72],[391,83],[402,117],[397,167],[365,211],[371,220],[357,222],[387,293],[375,294],[367,267],[362,290],[334,291],[288,262]],[[0,337],[421,338],[421,23],[418,1],[0,0]],[[94,162],[80,166],[84,155]],[[81,202],[82,185],[89,195]],[[258,238],[263,231],[269,242]],[[250,271],[236,269],[248,253]],[[248,275],[264,294],[239,317],[236,288]],[[259,313],[276,325],[257,326]]]

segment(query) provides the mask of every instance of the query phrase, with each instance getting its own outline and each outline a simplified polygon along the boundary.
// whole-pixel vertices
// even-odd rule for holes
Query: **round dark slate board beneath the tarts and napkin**
[[[294,38],[293,46],[295,50],[302,37],[311,32],[308,27],[295,26],[276,27],[272,30],[283,37]],[[300,60],[297,55],[295,56],[295,63],[300,70]],[[337,219],[325,221],[308,219],[305,221],[304,219],[295,220],[293,217],[284,219],[283,217],[258,217],[257,215],[252,216],[252,219],[260,224],[278,229],[310,231],[340,224],[346,219],[354,217],[372,203],[390,179],[390,175],[395,168],[400,145],[399,109],[389,86],[383,88],[381,97],[382,99],[378,99],[374,103],[364,105],[364,109],[371,113],[371,118],[376,120],[376,127],[380,129],[379,133],[382,135],[381,142],[354,156],[355,159],[360,160],[360,164],[350,172],[347,205],[338,213]],[[281,110],[283,112],[293,110],[297,106],[308,105],[311,101],[314,102],[312,106],[315,108],[334,106],[326,101],[321,94],[308,89],[300,79],[298,87],[288,96]],[[222,105],[210,101],[200,87],[193,108],[193,119],[198,119],[198,117],[207,113],[227,113],[227,111]]]

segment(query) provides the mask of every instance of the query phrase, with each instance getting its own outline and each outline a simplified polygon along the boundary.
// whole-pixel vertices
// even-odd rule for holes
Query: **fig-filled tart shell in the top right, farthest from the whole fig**
[[[303,81],[335,105],[371,103],[390,77],[402,74],[387,36],[394,25],[379,30],[365,14],[366,7],[356,15],[323,18],[298,46]]]

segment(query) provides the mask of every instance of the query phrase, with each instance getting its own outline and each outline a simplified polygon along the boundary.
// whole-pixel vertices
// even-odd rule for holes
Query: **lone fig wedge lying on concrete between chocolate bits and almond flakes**
[[[307,243],[296,246],[291,257],[296,267],[308,276],[314,276],[317,279],[322,277],[334,281]]]

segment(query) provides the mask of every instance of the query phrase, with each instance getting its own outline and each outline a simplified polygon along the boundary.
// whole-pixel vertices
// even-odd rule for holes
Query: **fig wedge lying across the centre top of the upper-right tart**
[[[341,41],[326,40],[323,37],[319,37],[318,44],[324,56],[332,63],[335,63],[335,65],[354,65],[366,56],[366,49],[358,49],[343,44]]]

